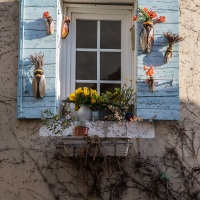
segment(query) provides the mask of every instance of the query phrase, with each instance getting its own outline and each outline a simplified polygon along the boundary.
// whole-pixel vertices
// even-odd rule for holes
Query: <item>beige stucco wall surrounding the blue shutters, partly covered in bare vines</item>
[[[92,199],[71,160],[55,159],[53,143],[39,137],[40,122],[16,119],[18,7],[16,0],[0,1],[0,199]],[[179,133],[168,122],[155,122],[155,139],[133,140],[142,155],[162,156],[166,146],[176,147],[193,166],[200,162],[199,7],[199,0],[180,0],[180,125],[191,140],[186,138],[182,149]],[[136,193],[129,189],[123,199],[133,198]]]

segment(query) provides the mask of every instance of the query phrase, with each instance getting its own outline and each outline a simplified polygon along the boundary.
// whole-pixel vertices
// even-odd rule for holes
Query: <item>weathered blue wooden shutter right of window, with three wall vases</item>
[[[163,32],[178,34],[179,5],[178,0],[138,0],[138,4],[151,9],[157,16],[165,16],[166,22],[154,25],[155,42],[152,52],[143,54],[139,46],[141,23],[138,23],[137,44],[137,116],[143,119],[178,120],[179,119],[179,52],[178,44],[174,45],[171,62],[164,63],[164,53],[168,46]],[[149,92],[145,83],[146,75],[143,66],[155,67],[156,88]]]

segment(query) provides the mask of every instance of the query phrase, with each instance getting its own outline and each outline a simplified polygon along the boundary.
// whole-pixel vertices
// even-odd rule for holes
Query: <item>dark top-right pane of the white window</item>
[[[121,49],[121,21],[101,21],[101,49]]]

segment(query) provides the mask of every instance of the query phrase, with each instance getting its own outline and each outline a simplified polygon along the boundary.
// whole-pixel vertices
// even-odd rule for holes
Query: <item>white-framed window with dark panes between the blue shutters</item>
[[[77,87],[99,93],[133,78],[130,6],[66,4],[70,34],[63,42],[61,97]],[[67,87],[66,87],[67,86]]]

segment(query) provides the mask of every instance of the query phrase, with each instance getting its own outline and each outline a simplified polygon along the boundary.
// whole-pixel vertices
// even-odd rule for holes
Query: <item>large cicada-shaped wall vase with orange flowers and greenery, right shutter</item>
[[[155,23],[165,22],[165,16],[157,17],[157,14],[147,8],[142,9],[138,5],[138,16],[133,16],[132,20],[143,22],[140,32],[140,47],[143,53],[151,52],[154,44],[154,27]]]

